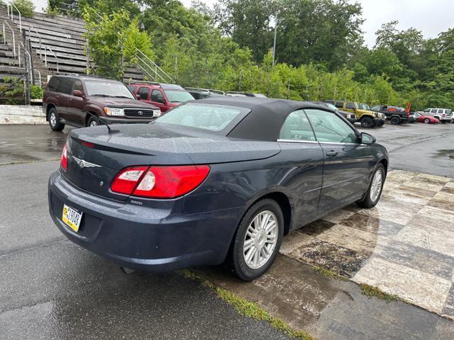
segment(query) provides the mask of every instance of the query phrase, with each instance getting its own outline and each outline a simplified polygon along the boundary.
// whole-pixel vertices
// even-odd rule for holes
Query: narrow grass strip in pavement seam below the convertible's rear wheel
[[[218,287],[211,281],[202,278],[192,271],[184,269],[181,272],[184,277],[191,278],[192,280],[199,280],[201,281],[201,283],[206,285],[206,287],[213,289],[217,293],[218,297],[234,307],[238,311],[238,314],[243,315],[244,317],[250,317],[255,320],[268,322],[271,327],[279,329],[279,331],[284,332],[284,334],[287,334],[294,339],[314,340],[314,338],[306,331],[298,331],[292,329],[288,324],[282,321],[282,319],[272,317],[266,310],[264,310],[256,303],[245,300],[243,299],[243,297],[239,297],[238,295],[235,295],[226,289]]]

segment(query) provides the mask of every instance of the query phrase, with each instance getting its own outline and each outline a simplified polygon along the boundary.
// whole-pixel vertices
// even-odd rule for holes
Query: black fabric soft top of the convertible
[[[250,113],[228,133],[228,137],[270,142],[275,142],[279,138],[284,120],[293,111],[300,108],[317,108],[333,112],[326,106],[309,101],[289,101],[275,98],[213,96],[201,99],[197,103],[249,108]]]

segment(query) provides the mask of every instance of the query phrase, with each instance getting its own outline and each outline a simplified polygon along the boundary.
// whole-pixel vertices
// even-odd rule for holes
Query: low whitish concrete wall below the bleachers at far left
[[[42,106],[0,105],[0,124],[45,124]]]

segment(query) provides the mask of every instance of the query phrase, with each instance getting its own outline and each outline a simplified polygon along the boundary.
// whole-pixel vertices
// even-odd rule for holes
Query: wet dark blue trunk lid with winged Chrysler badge
[[[139,165],[245,162],[280,152],[277,142],[232,140],[188,128],[112,125],[72,130],[67,141],[68,181],[99,196],[126,200],[110,190],[121,169]]]

